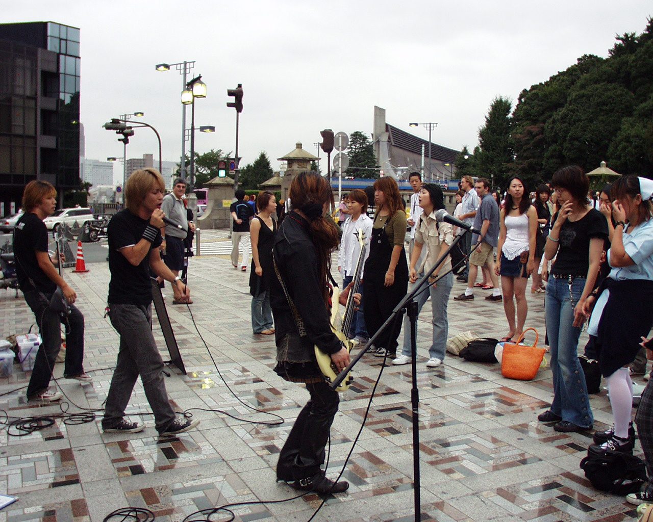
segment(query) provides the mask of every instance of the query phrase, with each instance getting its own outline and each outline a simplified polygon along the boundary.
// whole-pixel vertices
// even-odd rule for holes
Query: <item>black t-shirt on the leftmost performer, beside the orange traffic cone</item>
[[[38,290],[52,294],[57,285],[39,267],[37,252],[48,252],[48,229],[33,212],[20,217],[14,231],[16,276],[23,292]]]

